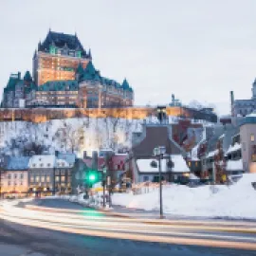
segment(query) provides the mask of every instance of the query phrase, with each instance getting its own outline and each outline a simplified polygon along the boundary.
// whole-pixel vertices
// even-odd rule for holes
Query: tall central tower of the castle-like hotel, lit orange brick
[[[91,59],[76,35],[49,30],[33,56],[33,80],[39,86],[48,81],[75,80],[79,64],[85,68]]]

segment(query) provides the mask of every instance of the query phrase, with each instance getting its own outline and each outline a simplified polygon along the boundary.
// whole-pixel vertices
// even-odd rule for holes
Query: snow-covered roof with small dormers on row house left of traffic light
[[[34,168],[54,168],[55,166],[55,155],[33,155],[29,159],[28,167]]]

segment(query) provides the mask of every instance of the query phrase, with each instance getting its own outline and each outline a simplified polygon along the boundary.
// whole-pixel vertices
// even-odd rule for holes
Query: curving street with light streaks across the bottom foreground
[[[1,255],[7,256],[255,255],[256,250],[255,223],[161,224],[111,216],[59,199],[20,205],[10,201],[0,210]],[[20,253],[13,254],[14,248]]]

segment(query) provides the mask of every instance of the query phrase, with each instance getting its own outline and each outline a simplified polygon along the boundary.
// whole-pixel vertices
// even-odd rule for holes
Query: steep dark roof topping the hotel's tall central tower
[[[66,47],[70,50],[80,50],[82,52],[82,57],[87,57],[86,51],[77,35],[49,31],[43,44],[39,44],[38,50],[49,51],[50,46],[57,46],[59,48]]]

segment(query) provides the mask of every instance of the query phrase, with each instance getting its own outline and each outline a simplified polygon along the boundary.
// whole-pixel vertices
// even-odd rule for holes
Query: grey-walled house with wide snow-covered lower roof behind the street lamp
[[[127,159],[126,172],[131,173],[134,183],[158,181],[158,169],[152,166],[156,147],[164,147],[162,159],[163,179],[166,181],[184,182],[188,179],[190,169],[187,166],[187,156],[173,139],[171,125],[148,123],[143,125],[141,133],[135,133],[130,155]],[[156,163],[157,164],[157,163]]]

